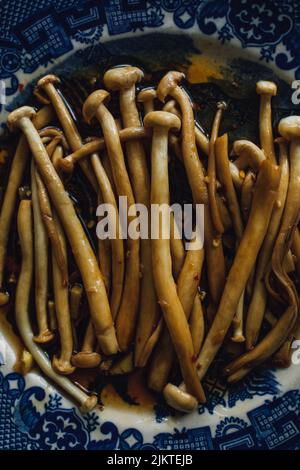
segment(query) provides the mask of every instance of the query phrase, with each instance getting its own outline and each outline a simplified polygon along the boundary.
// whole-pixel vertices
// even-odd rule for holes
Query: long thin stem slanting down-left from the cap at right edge
[[[281,168],[280,183],[268,231],[266,233],[264,243],[259,253],[258,263],[255,272],[253,294],[248,308],[246,322],[246,347],[248,350],[253,349],[257,342],[257,338],[261,329],[266,309],[267,291],[265,287],[264,276],[267,270],[268,263],[272,257],[274,244],[276,241],[280,221],[285,207],[289,184],[289,163],[286,142],[283,140],[280,141],[279,146]]]

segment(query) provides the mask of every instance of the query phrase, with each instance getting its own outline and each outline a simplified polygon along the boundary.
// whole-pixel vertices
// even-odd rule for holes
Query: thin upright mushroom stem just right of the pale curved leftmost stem
[[[47,319],[48,237],[38,200],[33,160],[31,162],[31,197],[34,216],[35,310],[38,325],[38,334],[34,337],[34,341],[36,343],[47,343],[54,337],[50,331]]]

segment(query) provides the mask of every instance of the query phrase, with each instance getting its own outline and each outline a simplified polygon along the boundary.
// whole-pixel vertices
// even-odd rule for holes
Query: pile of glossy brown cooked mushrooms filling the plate
[[[206,400],[201,382],[217,354],[230,356],[223,372],[232,383],[262,363],[287,367],[300,335],[300,117],[283,118],[274,140],[277,88],[259,81],[259,146],[238,140],[230,149],[228,135],[219,135],[226,104],[217,103],[205,135],[183,79],[171,71],[156,88],[142,88],[139,68],[109,69],[105,89],[95,89],[82,107],[80,118],[93,137],[79,131],[54,75],[36,85],[39,111],[24,106],[8,117],[9,129],[21,136],[0,214],[0,305],[10,301],[4,275],[17,206],[17,327],[36,364],[83,412],[97,397],[65,377],[75,369],[121,374],[145,368],[150,389],[190,412]],[[187,249],[172,213],[167,237],[162,219],[151,219],[152,205],[170,205],[172,158],[181,162],[194,208],[204,206],[203,246]],[[98,250],[67,190],[76,173],[117,214],[108,213],[116,236],[99,239]],[[118,223],[124,196],[128,221],[143,205],[158,236],[124,239]],[[78,334],[84,302],[88,317]],[[51,357],[43,349],[48,343],[58,345]],[[174,369],[181,384],[171,383]]]

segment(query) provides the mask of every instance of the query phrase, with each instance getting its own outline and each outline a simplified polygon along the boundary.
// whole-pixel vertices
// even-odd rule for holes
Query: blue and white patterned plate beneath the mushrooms
[[[173,68],[184,58],[194,83],[226,71],[253,87],[275,74],[297,112],[290,99],[299,44],[296,0],[2,0],[1,126],[49,70],[68,74],[129,56],[155,69],[153,54]],[[163,403],[121,404],[115,395],[82,416],[39,371],[25,378],[13,371],[19,348],[0,313],[0,449],[300,447],[300,366],[261,369],[227,389],[216,364],[205,384],[208,404],[189,416]]]

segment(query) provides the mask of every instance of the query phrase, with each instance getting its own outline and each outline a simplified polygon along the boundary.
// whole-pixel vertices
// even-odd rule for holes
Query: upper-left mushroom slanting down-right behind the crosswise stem
[[[57,118],[64,130],[64,134],[70,145],[70,148],[73,152],[75,152],[82,147],[82,140],[70,112],[68,111],[61,95],[54,86],[55,83],[60,83],[58,77],[55,75],[46,75],[38,81],[36,89],[38,92],[42,90],[48,96],[53,108],[55,109]],[[96,191],[97,184],[93,172],[89,166],[89,162],[82,160],[80,162],[80,166],[83,173]]]

